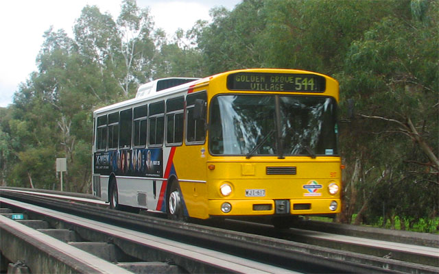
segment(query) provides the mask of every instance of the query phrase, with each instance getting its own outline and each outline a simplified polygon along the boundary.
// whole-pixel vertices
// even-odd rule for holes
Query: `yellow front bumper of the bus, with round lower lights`
[[[209,200],[211,216],[335,214],[341,209],[339,198]]]

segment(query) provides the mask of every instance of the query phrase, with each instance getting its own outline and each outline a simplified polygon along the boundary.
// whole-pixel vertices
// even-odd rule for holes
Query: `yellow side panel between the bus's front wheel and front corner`
[[[209,218],[206,186],[207,145],[183,145],[176,148],[174,167],[189,216]]]

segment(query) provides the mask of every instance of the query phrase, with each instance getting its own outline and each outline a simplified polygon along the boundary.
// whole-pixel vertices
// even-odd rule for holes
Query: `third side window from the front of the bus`
[[[150,123],[148,146],[161,147],[163,145],[163,129],[165,127],[164,101],[150,104],[148,119]]]

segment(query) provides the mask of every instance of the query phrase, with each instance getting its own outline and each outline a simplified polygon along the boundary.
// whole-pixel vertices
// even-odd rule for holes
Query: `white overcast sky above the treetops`
[[[241,0],[137,0],[150,7],[156,27],[174,34],[178,27],[189,29],[198,19],[209,20],[209,10],[223,5],[233,10]],[[51,25],[73,38],[75,19],[86,5],[97,5],[116,20],[121,0],[0,0],[0,107],[12,103],[21,82],[36,71],[36,55],[43,34]]]

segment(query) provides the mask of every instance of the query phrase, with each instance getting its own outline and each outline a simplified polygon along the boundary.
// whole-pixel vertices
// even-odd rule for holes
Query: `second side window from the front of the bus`
[[[183,142],[183,109],[185,98],[178,97],[166,101],[166,145],[176,146]]]

